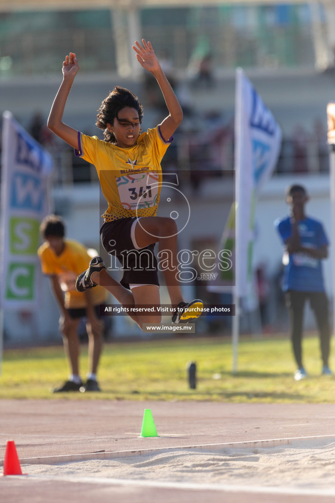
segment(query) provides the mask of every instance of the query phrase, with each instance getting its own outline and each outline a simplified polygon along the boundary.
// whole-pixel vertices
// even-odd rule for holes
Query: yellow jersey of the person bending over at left
[[[85,246],[72,239],[64,239],[65,247],[61,255],[57,256],[48,242],[37,250],[42,265],[42,272],[48,276],[58,277],[61,289],[65,293],[64,305],[66,309],[80,309],[86,307],[84,293],[77,292],[75,282],[77,276],[88,268],[91,257]],[[97,306],[106,299],[106,291],[101,286],[92,288],[92,302]]]

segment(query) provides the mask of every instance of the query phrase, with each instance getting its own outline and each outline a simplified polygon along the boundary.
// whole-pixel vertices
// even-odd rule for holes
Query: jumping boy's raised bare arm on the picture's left
[[[62,118],[65,103],[78,70],[79,64],[76,55],[70,52],[70,55],[66,56],[63,62],[63,81],[52,104],[48,118],[48,128],[73,148],[78,148],[78,132],[64,124]]]

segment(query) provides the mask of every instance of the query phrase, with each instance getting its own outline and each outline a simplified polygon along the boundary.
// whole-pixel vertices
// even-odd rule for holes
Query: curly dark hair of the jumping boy
[[[107,124],[113,124],[114,119],[118,118],[118,113],[125,107],[135,108],[138,111],[140,124],[143,119],[143,107],[138,97],[126,88],[116,86],[109,93],[107,98],[101,103],[96,116],[96,126],[103,130],[104,141],[109,143],[117,143],[114,133],[111,133]],[[140,132],[142,130],[140,129]]]

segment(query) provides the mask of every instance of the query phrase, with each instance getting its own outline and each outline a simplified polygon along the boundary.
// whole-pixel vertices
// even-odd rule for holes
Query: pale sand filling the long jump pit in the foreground
[[[44,464],[42,458],[38,464],[23,460],[23,469],[54,481],[335,497],[335,437],[87,457],[91,459],[68,462],[57,462],[55,457],[52,464]]]

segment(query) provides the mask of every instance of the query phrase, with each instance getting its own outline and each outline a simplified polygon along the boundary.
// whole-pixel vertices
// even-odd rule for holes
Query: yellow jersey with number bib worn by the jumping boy
[[[134,147],[113,143],[78,132],[75,154],[94,164],[108,208],[105,222],[157,214],[162,185],[161,160],[172,138],[165,141],[160,128],[142,133]]]

